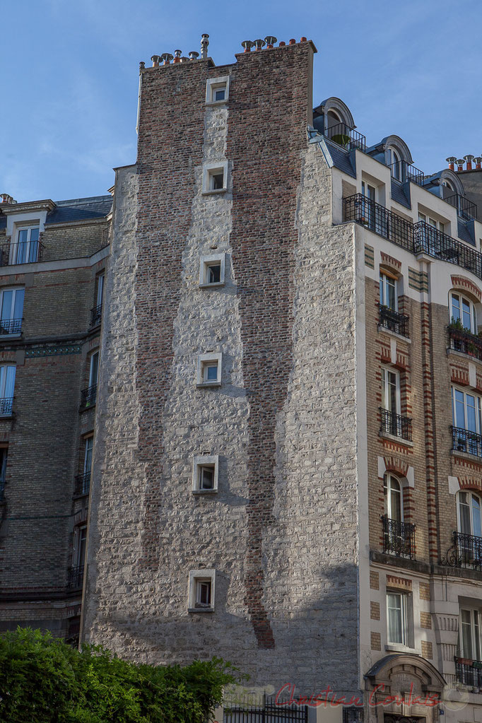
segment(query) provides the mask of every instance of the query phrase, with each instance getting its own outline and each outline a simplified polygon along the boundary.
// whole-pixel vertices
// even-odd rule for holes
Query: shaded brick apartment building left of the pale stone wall
[[[0,200],[0,630],[75,641],[112,197]]]

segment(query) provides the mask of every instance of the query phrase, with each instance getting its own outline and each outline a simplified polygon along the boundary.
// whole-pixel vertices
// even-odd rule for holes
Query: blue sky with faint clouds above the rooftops
[[[425,173],[482,155],[481,0],[23,0],[1,11],[0,192],[105,194],[136,157],[139,61],[241,40],[311,38],[314,104],[345,100],[369,145],[395,133]]]

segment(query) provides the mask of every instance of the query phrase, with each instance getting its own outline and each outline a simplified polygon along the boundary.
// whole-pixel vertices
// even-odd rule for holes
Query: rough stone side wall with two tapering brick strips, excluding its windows
[[[151,662],[219,654],[254,685],[311,693],[357,687],[358,552],[353,232],[324,227],[330,173],[306,150],[310,52],[143,76],[137,244],[115,231],[106,287],[119,313],[110,302],[85,634]],[[226,72],[228,111],[205,108],[207,75]],[[232,196],[202,196],[203,163],[225,159]],[[129,297],[134,272],[119,262],[134,251]],[[227,254],[227,283],[199,289],[210,252]],[[223,353],[218,389],[195,386],[207,351]],[[200,498],[203,453],[220,457],[219,490]],[[188,573],[203,567],[216,570],[215,612],[188,613]]]

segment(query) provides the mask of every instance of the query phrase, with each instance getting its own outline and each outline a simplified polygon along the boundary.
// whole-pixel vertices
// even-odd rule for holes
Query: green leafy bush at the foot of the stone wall
[[[239,671],[223,660],[137,665],[50,633],[0,636],[0,722],[205,723]]]

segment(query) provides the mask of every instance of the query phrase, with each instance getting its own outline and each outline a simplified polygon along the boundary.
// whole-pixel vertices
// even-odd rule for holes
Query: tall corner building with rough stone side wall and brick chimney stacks
[[[83,637],[330,686],[347,720],[479,721],[481,158],[367,145],[339,98],[312,110],[311,41],[267,40],[141,67]]]

